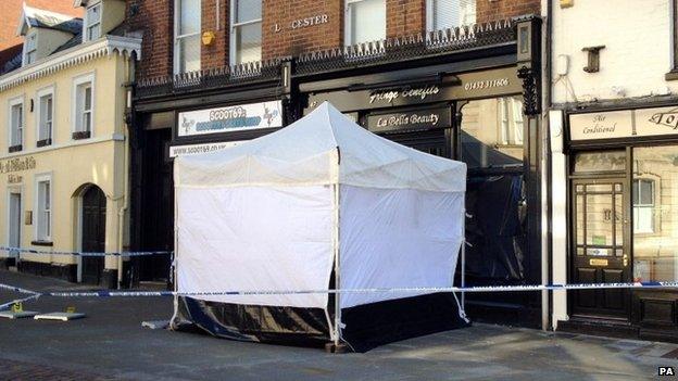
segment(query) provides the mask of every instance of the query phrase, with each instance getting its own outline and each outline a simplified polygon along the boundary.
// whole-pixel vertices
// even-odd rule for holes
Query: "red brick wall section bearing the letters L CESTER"
[[[297,25],[322,15],[327,18],[309,20],[314,25]],[[262,16],[264,60],[338,47],[343,40],[343,4],[339,0],[264,0]]]

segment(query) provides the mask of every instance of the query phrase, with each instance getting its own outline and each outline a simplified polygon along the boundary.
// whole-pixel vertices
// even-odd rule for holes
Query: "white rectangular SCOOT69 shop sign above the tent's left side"
[[[177,135],[188,137],[281,126],[282,103],[273,101],[179,113]]]

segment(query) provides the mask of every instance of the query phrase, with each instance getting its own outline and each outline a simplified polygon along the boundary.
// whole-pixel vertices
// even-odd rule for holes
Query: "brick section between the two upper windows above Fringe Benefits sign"
[[[387,0],[386,36],[409,36],[426,28],[425,0]]]

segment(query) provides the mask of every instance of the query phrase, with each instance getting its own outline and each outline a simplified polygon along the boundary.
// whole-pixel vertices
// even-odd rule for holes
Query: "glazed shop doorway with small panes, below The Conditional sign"
[[[624,170],[624,152],[578,155],[579,169],[595,168],[595,174],[572,180],[570,245],[572,283],[623,283],[631,281],[631,252],[629,244],[629,190],[623,173],[612,176],[595,163],[601,158],[615,160]],[[602,156],[601,156],[602,155]],[[604,157],[603,157],[604,156]],[[576,168],[577,165],[576,164]],[[569,293],[572,316],[628,321],[630,293],[628,289],[573,291]]]

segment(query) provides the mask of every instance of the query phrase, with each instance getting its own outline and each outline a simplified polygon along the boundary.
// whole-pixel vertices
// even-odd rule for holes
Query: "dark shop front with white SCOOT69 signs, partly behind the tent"
[[[260,71],[198,72],[136,86],[131,139],[131,242],[140,251],[174,250],[174,158],[226,149],[282,127],[287,97],[279,62]],[[134,283],[167,282],[171,257],[133,261]]]

